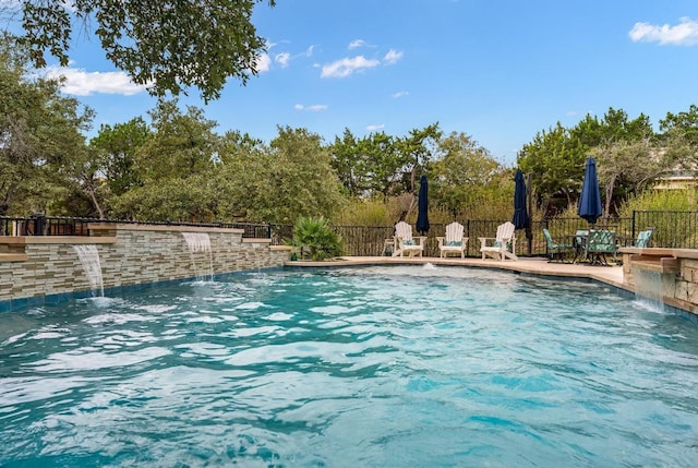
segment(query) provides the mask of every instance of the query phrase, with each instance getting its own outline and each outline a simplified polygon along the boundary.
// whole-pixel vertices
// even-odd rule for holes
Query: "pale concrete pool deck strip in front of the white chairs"
[[[519,257],[518,261],[481,259],[440,259],[437,256],[341,256],[328,262],[287,261],[289,267],[340,267],[361,265],[424,265],[431,263],[438,266],[465,266],[472,268],[493,268],[509,272],[527,273],[540,276],[568,278],[587,278],[604,283],[634,292],[631,285],[623,283],[623,266],[588,265],[585,263],[551,263],[545,257]]]

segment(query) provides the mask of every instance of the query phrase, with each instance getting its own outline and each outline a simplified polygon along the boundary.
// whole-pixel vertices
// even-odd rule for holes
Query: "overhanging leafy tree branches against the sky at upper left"
[[[152,94],[200,89],[216,99],[233,77],[257,73],[265,39],[252,24],[255,4],[275,0],[21,0],[22,38],[35,67],[47,52],[65,67],[75,29],[94,24],[106,56]]]

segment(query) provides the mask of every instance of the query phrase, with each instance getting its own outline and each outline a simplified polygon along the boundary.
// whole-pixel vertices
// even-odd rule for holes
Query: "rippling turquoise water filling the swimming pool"
[[[698,327],[607,287],[281,271],[0,314],[2,467],[698,466]]]

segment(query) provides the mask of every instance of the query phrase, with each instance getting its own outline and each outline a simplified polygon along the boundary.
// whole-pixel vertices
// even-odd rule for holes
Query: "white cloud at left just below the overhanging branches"
[[[133,83],[124,72],[87,72],[83,69],[49,67],[46,69],[46,76],[65,77],[62,92],[75,96],[89,96],[94,93],[132,96],[146,88]]]

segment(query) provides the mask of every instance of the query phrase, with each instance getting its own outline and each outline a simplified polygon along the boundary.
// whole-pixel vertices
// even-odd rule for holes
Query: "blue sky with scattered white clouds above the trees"
[[[220,133],[268,142],[289,125],[330,143],[345,128],[404,136],[438,122],[513,165],[557,121],[613,107],[657,127],[698,104],[696,0],[277,0],[253,21],[269,44],[258,77],[208,105],[196,89],[180,99]],[[71,59],[63,92],[96,110],[95,132],[147,120],[155,98],[96,41],[83,35]]]

